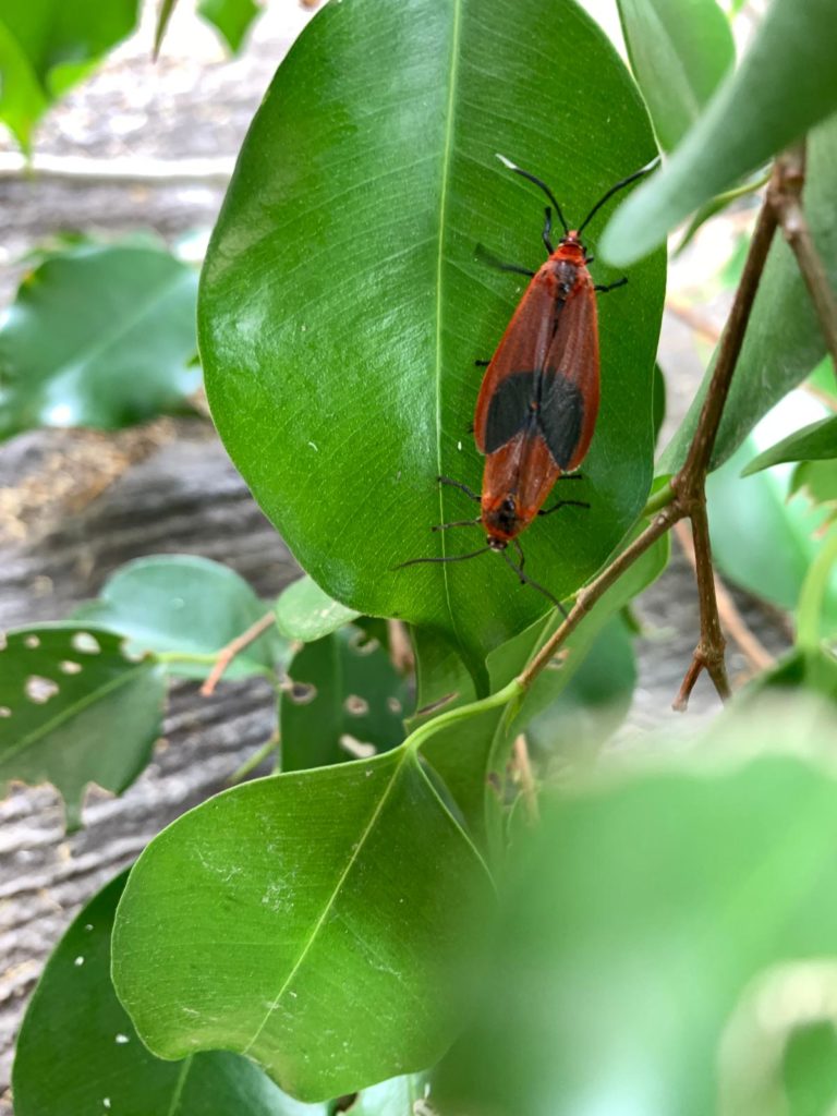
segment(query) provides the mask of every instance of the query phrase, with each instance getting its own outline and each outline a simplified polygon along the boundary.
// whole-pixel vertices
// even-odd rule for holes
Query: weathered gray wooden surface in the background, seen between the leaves
[[[221,61],[209,32],[194,30],[184,6],[155,69],[146,19],[142,36],[49,121],[41,150],[114,157],[233,155],[301,25],[300,12],[290,0],[287,4],[281,13],[270,9],[251,49],[232,64]],[[0,243],[9,264],[0,277],[0,301],[11,297],[20,273],[16,257],[51,232],[151,227],[173,238],[208,228],[220,200],[218,186],[205,183],[0,183]],[[664,334],[662,359],[674,373],[676,414],[700,366],[691,338],[675,324]],[[38,431],[0,445],[0,627],[60,618],[95,595],[123,562],[161,552],[227,562],[264,596],[276,594],[295,569],[202,420],[165,421],[113,436]],[[769,617],[758,605],[742,604],[762,637],[780,646],[783,637]],[[654,634],[639,641],[632,732],[682,723],[668,705],[691,655],[698,615],[682,558],[645,595],[639,612]],[[731,666],[733,674],[743,666],[734,652]],[[690,716],[714,708],[702,681]],[[27,997],[78,907],[162,826],[220,790],[271,728],[271,696],[261,683],[222,685],[211,700],[179,685],[153,763],[119,799],[90,791],[80,833],[65,837],[60,804],[47,787],[16,787],[0,802],[0,1114],[11,1110],[11,1051]]]

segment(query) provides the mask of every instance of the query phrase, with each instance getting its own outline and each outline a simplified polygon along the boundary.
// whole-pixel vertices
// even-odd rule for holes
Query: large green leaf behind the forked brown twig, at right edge
[[[833,287],[837,288],[837,116],[817,128],[808,144],[805,212]],[[715,469],[743,442],[762,415],[800,384],[821,360],[825,341],[799,267],[782,237],[776,237],[747,327],[712,454]],[[716,356],[716,354],[715,354]],[[685,461],[705,398],[714,358],[701,389],[658,464],[674,473]]]

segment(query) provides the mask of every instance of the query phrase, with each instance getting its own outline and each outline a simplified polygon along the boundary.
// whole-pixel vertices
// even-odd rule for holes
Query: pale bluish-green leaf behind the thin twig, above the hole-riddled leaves
[[[123,566],[105,583],[98,599],[83,605],[74,618],[127,636],[132,654],[165,654],[170,674],[205,679],[215,654],[261,619],[269,607],[243,578],[220,562],[157,555]],[[239,652],[224,677],[275,677],[287,654],[279,633],[264,632]],[[192,656],[204,661],[190,662]]]

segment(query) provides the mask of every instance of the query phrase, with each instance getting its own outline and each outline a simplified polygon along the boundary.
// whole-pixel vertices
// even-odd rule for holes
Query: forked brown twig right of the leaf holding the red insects
[[[729,321],[727,323],[727,328],[721,338],[709,391],[706,392],[703,408],[682,469],[672,478],[668,490],[664,493],[658,493],[652,500],[651,506],[657,509],[657,513],[645,530],[595,580],[580,590],[565,622],[519,676],[518,682],[523,690],[531,685],[570,633],[578,627],[584,615],[618,580],[622,574],[637,558],[645,554],[657,539],[662,538],[666,531],[674,527],[675,523],[682,519],[689,519],[692,523],[692,538],[694,540],[701,634],[692,655],[692,662],[675,699],[674,708],[677,710],[686,708],[695,682],[703,671],[706,671],[723,701],[730,696],[730,684],[727,679],[727,668],[724,665],[725,641],[718,613],[714,573],[712,569],[712,550],[706,518],[705,481],[712,458],[712,450],[721,423],[721,415],[723,414],[723,407],[729,395],[730,384],[732,383],[732,375],[741,353],[747,324],[756,300],[768,251],[780,222],[780,212],[787,210],[787,189],[782,184],[786,184],[788,176],[790,176],[793,190],[796,191],[795,196],[798,206],[799,192],[801,191],[801,180],[798,177],[800,173],[798,156],[793,152],[782,155],[777,160],[767,196],[756,223],[741,282],[735,294],[735,300]],[[801,210],[799,212],[801,213]],[[797,222],[798,219],[799,214],[796,214],[795,220]],[[837,324],[837,315],[834,321]]]

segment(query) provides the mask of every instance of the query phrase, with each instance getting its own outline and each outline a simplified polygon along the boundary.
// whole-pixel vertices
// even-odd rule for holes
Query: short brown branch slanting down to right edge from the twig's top
[[[780,155],[776,164],[778,174],[768,190],[768,201],[781,225],[785,239],[797,258],[828,352],[837,368],[837,298],[831,290],[802,210],[805,164],[805,143],[797,144]]]

